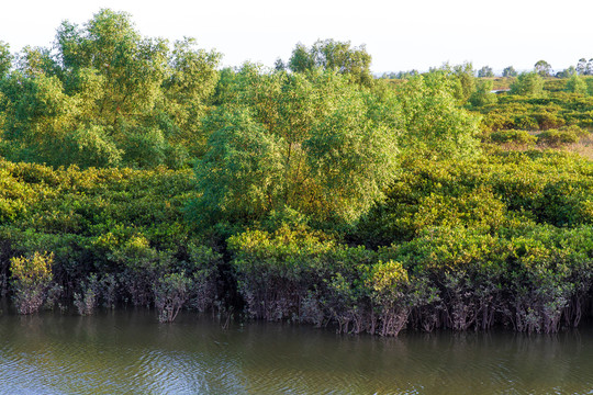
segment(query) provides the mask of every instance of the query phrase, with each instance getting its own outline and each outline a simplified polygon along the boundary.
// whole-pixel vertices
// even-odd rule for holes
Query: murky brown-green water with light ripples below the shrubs
[[[7,394],[593,394],[593,330],[398,339],[184,314],[0,313]]]

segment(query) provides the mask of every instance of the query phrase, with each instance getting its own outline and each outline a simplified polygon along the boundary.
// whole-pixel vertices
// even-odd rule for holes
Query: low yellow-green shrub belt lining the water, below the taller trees
[[[81,314],[131,302],[155,304],[170,321],[183,306],[240,297],[254,317],[334,323],[343,332],[497,324],[551,332],[579,323],[593,284],[593,169],[568,155],[407,159],[350,234],[315,230],[299,212],[279,210],[210,240],[226,256],[190,238],[181,218],[193,189],[187,171],[10,162],[0,170],[0,253],[34,257],[11,260],[13,298],[27,306],[59,291],[49,289],[55,281]],[[43,249],[53,264],[37,259],[48,275],[30,283],[45,291],[25,298],[19,273],[35,270],[15,262],[30,264]]]

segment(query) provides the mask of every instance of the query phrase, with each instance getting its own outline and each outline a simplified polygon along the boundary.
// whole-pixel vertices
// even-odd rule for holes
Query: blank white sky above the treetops
[[[374,72],[465,60],[522,70],[539,59],[561,70],[593,58],[593,0],[8,0],[0,41],[13,52],[51,46],[63,20],[82,24],[101,8],[130,12],[144,36],[195,37],[226,66],[272,66],[317,38],[366,44]]]

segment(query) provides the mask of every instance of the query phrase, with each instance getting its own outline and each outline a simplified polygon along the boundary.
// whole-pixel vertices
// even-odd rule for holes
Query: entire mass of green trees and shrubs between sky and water
[[[273,69],[220,58],[111,10],[51,49],[0,45],[0,292],[20,313],[383,336],[591,315],[593,168],[563,151],[586,148],[588,78],[374,79],[333,40]]]

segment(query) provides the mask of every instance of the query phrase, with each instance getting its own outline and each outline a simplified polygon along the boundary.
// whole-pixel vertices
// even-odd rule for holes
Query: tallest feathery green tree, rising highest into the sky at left
[[[154,108],[166,72],[167,43],[143,38],[127,13],[103,9],[85,26],[65,21],[56,38],[59,60],[69,75],[68,93],[83,91],[80,74],[101,79],[93,123],[135,124]]]

